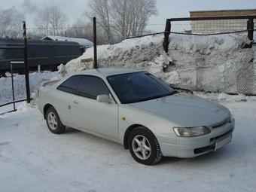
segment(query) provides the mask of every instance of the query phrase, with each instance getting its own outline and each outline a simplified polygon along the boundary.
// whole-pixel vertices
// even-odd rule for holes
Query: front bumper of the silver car
[[[177,137],[175,145],[166,142],[161,143],[163,156],[189,158],[215,151],[216,143],[232,137],[234,127],[235,120],[231,123],[226,123],[224,126],[212,129],[211,133],[204,136]],[[224,145],[227,145],[227,143],[224,143]]]

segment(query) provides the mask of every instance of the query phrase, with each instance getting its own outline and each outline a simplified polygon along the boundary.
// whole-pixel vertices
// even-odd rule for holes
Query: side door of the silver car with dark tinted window
[[[96,97],[102,94],[110,94],[105,82],[99,77],[84,75],[77,95],[72,98],[72,123],[81,130],[116,140],[117,103],[97,102]]]

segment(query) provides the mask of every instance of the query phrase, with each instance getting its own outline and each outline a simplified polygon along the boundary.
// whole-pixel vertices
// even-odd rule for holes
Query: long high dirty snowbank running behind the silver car
[[[97,47],[98,66],[143,69],[173,87],[225,93],[256,93],[256,62],[242,33],[169,35],[168,56],[163,35],[133,38]],[[93,68],[93,47],[60,66],[62,76]]]

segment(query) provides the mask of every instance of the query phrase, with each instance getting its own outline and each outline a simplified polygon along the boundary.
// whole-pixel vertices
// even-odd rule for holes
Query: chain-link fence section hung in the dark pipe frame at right
[[[166,20],[163,49],[171,59],[164,69],[175,71],[188,90],[256,94],[253,34],[256,16],[189,17]],[[190,23],[175,32],[172,25]]]

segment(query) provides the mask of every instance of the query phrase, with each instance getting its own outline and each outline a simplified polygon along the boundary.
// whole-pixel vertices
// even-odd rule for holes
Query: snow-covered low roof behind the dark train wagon
[[[69,37],[63,37],[63,36],[53,36],[48,35],[42,38],[42,40],[52,40],[52,41],[73,41],[77,42],[78,44],[85,46],[85,47],[92,47],[93,42],[87,40],[86,38],[69,38]]]

